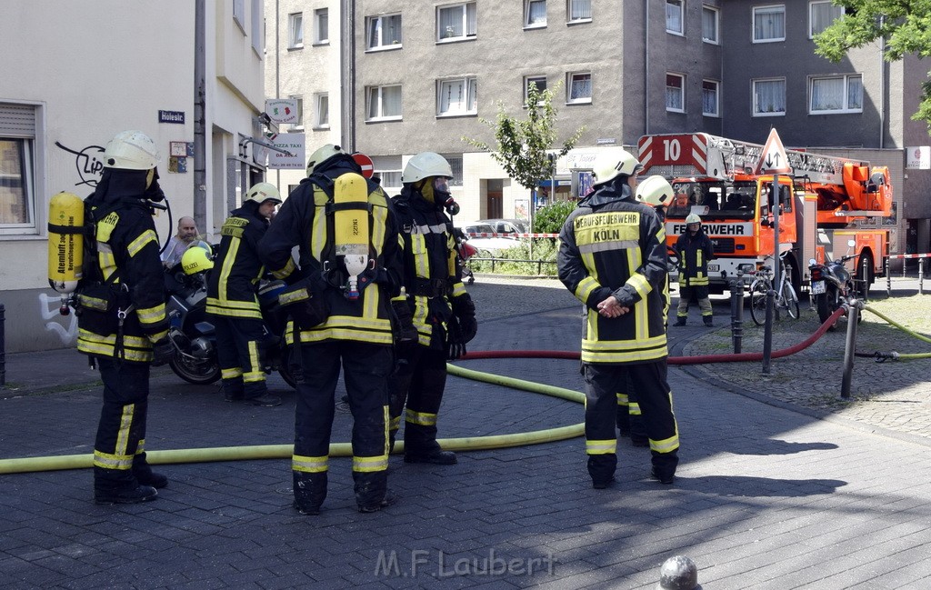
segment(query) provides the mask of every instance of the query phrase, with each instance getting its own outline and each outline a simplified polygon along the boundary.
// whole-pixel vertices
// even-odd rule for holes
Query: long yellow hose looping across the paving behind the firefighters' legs
[[[570,401],[585,403],[585,395],[571,389],[563,389],[543,383],[528,382],[477,370],[463,369],[447,365],[449,374],[473,381],[489,382],[511,389],[520,389],[545,396],[560,397]],[[534,430],[527,433],[494,436],[466,436],[462,438],[441,438],[439,444],[446,450],[485,450],[506,449],[523,445],[536,445],[545,442],[565,440],[585,434],[585,424],[573,424],[546,430]],[[145,453],[149,463],[205,463],[218,461],[252,461],[258,459],[290,459],[293,445],[254,445],[246,447],[210,447],[204,449],[150,450]],[[404,443],[395,444],[395,452],[404,450]],[[351,457],[352,445],[333,443],[330,445],[331,457]],[[20,459],[0,459],[0,474],[30,473],[37,471],[56,471],[61,469],[86,469],[93,466],[94,457],[85,455],[60,455],[52,457],[24,457]]]

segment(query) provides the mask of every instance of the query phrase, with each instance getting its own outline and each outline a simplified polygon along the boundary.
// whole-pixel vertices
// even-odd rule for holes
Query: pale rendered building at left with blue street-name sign
[[[47,281],[47,208],[90,194],[122,130],[155,140],[171,220],[213,233],[242,184],[260,178],[263,0],[5,3],[0,18],[0,303],[6,352],[74,343]]]

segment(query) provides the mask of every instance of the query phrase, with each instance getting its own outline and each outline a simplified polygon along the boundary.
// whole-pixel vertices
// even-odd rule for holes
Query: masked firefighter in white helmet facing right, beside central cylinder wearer
[[[446,361],[465,353],[466,342],[478,330],[447,216],[458,210],[449,192],[451,180],[446,158],[416,154],[401,174],[401,194],[392,199],[404,248],[404,293],[392,302],[402,335],[398,370],[389,383],[390,435],[393,448],[404,410],[406,463],[456,463],[455,453],[440,449],[437,442],[437,415]]]

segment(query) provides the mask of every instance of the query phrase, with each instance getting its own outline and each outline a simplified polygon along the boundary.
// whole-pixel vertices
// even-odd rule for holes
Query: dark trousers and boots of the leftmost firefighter
[[[149,365],[116,362],[97,356],[103,381],[103,407],[94,441],[94,488],[101,491],[135,489],[134,473],[147,471],[140,441],[145,439],[145,418],[149,407]],[[132,465],[125,464],[127,457]],[[120,458],[124,458],[122,461]],[[102,467],[99,463],[111,463]]]

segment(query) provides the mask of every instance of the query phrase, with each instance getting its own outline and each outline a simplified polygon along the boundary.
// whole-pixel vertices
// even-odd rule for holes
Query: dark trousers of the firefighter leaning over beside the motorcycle
[[[260,347],[265,338],[264,323],[251,317],[210,315],[217,332],[217,360],[221,370],[239,369],[242,377],[223,380],[227,396],[260,397],[268,393]]]

